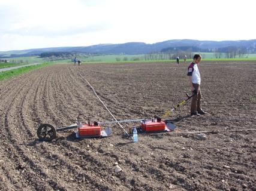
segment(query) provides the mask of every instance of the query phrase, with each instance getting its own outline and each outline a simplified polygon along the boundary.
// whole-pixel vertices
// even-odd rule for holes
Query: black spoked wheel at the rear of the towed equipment
[[[37,129],[37,137],[40,140],[51,141],[56,138],[56,129],[50,124],[41,124]]]

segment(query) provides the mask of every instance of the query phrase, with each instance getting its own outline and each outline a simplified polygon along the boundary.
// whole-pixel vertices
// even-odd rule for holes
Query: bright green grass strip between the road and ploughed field
[[[35,70],[35,69],[38,69],[41,67],[50,66],[52,64],[53,63],[43,63],[43,64],[38,64],[38,65],[33,65],[33,66],[25,66],[25,67],[20,67],[19,69],[0,72],[0,81],[2,81],[4,79],[9,79],[14,76],[18,76],[22,73],[30,72],[32,70]]]

